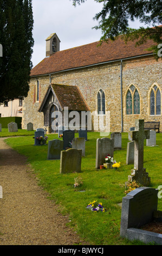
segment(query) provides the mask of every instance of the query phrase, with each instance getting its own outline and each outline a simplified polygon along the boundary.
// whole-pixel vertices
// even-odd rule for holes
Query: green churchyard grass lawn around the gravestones
[[[78,133],[75,134],[77,136]],[[82,171],[71,174],[60,174],[60,160],[47,160],[48,145],[34,146],[33,136],[12,137],[6,141],[28,157],[39,184],[49,192],[49,198],[56,202],[58,210],[69,216],[69,225],[90,245],[142,245],[141,242],[131,242],[120,237],[121,209],[118,204],[125,196],[125,182],[133,168],[133,164],[126,165],[128,133],[122,133],[122,150],[114,151],[114,159],[121,162],[118,170],[95,169],[96,139],[99,137],[98,132],[88,132],[89,141],[86,142],[86,156],[82,157]],[[57,135],[48,135],[48,140],[54,138]],[[161,133],[157,133],[157,145],[146,147],[145,141],[144,147],[144,167],[154,188],[162,185]],[[83,184],[74,188],[74,178],[78,176],[81,176]],[[87,210],[86,206],[93,200],[101,202],[106,211]],[[158,200],[158,210],[162,210],[162,199]]]

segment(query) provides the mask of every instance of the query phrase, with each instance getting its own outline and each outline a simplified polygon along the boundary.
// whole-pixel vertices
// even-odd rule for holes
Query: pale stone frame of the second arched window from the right
[[[132,87],[132,86],[134,86],[133,92],[131,92],[131,87]],[[139,107],[140,107],[139,114],[134,114],[134,94],[135,94],[135,90],[137,90],[137,92],[138,92],[138,94],[139,94],[139,100],[140,100],[140,102],[139,102]],[[132,114],[127,114],[127,101],[126,101],[126,99],[127,99],[127,93],[128,93],[128,91],[131,92],[131,95],[132,95]],[[140,115],[140,113],[141,113],[141,95],[140,95],[139,89],[138,89],[138,87],[137,87],[136,84],[134,84],[134,83],[129,84],[129,86],[128,86],[127,90],[126,90],[126,93],[125,93],[124,103],[125,103],[125,105],[124,105],[124,114],[125,114],[125,115],[127,115],[127,116],[128,116],[128,115],[135,115],[135,116],[136,116],[136,115],[137,115],[137,116]]]

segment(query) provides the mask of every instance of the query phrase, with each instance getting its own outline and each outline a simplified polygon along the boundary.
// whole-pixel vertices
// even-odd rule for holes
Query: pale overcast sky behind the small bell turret
[[[59,37],[60,51],[99,41],[101,31],[92,29],[98,22],[93,19],[102,9],[102,3],[87,0],[73,6],[72,0],[33,0],[34,48],[33,66],[46,57],[46,39],[52,33]],[[135,22],[131,27],[139,27]]]

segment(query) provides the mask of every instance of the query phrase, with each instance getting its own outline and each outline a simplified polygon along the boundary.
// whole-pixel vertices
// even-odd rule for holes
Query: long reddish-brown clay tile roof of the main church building
[[[109,62],[134,56],[141,56],[151,52],[146,48],[153,45],[149,40],[145,44],[135,47],[135,42],[125,44],[120,37],[115,41],[109,40],[108,44],[98,42],[82,45],[68,50],[55,52],[52,56],[44,58],[30,73],[30,76],[45,75],[53,72],[81,68],[88,65]]]

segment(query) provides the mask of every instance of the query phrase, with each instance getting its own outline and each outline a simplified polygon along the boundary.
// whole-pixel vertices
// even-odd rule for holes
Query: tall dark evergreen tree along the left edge
[[[0,103],[28,95],[33,23],[31,0],[0,0]]]

